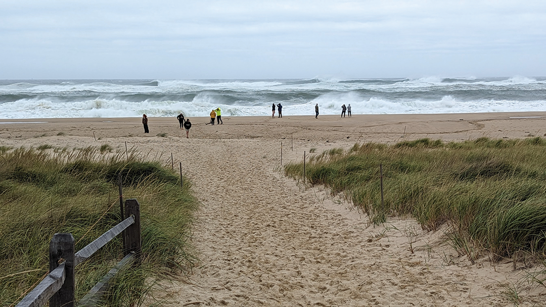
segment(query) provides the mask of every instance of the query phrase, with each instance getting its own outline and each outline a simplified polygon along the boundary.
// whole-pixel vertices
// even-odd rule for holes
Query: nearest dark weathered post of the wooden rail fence
[[[55,233],[49,244],[49,272],[64,260],[64,283],[49,299],[50,307],[74,307],[74,237],[72,233]]]

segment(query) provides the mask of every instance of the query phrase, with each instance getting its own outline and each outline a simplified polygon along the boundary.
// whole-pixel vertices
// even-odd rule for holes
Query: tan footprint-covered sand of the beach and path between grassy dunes
[[[193,244],[200,262],[188,278],[159,280],[167,306],[520,306],[546,305],[544,287],[529,287],[509,260],[471,264],[411,220],[369,226],[365,215],[321,187],[284,178],[283,164],[304,151],[394,143],[546,134],[546,112],[449,115],[192,118],[190,138],[175,118],[0,120],[0,145],[127,146],[175,164],[203,203]],[[157,136],[166,133],[167,136]],[[145,204],[144,204],[145,205]],[[411,252],[413,250],[413,253]],[[527,269],[531,272],[538,267]],[[149,299],[152,302],[152,298]]]

